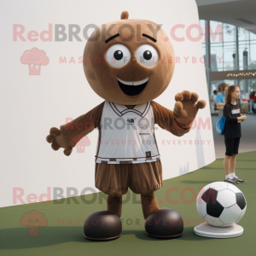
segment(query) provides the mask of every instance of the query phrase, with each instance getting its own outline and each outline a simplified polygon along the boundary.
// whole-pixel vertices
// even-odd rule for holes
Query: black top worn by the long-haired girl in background
[[[224,127],[225,138],[241,137],[241,124],[237,123],[237,118],[241,116],[239,104],[233,105],[230,102],[224,105],[224,118],[226,119]]]

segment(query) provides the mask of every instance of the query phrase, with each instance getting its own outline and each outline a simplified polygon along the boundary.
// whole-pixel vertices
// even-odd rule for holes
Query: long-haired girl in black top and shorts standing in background
[[[224,142],[226,152],[224,157],[225,182],[238,184],[245,183],[245,180],[240,179],[235,174],[236,154],[241,138],[241,122],[247,119],[247,116],[241,115],[241,108],[236,103],[240,98],[240,89],[237,85],[231,85],[225,96],[224,105]]]

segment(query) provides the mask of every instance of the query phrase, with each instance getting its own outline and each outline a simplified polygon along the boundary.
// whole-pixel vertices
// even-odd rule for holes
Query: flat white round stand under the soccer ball
[[[209,224],[199,224],[194,228],[195,235],[206,236],[211,238],[231,238],[241,236],[243,228],[234,224],[230,227],[214,227]]]

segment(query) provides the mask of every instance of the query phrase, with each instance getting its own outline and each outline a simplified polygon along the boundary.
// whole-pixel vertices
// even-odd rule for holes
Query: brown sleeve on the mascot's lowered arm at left
[[[101,125],[104,103],[102,102],[66,125],[61,125],[61,134],[70,147],[73,148],[82,137]]]

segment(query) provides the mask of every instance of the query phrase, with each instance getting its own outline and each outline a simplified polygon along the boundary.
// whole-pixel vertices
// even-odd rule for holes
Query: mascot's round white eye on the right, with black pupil
[[[141,45],[136,51],[137,61],[145,67],[153,67],[158,61],[158,53],[149,44]]]

